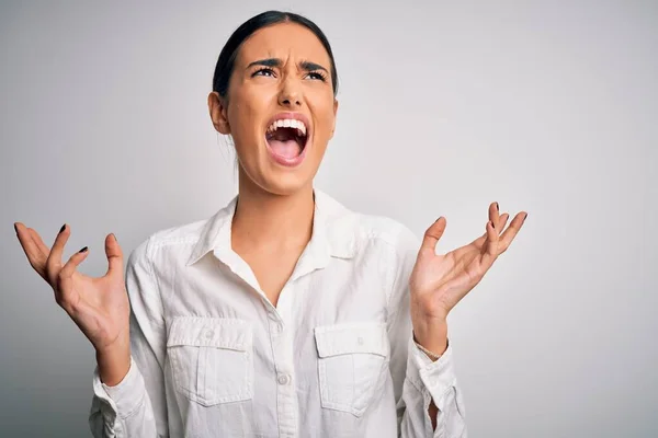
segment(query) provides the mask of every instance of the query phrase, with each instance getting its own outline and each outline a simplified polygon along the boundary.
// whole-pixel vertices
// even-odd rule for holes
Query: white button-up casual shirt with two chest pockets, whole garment
[[[412,338],[420,241],[314,193],[311,239],[276,307],[231,250],[237,196],[131,253],[131,367],[115,387],[94,369],[94,437],[467,436],[450,343],[431,361]]]

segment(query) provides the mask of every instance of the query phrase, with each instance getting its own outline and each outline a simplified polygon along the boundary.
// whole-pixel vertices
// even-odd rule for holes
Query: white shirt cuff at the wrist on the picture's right
[[[453,349],[447,343],[443,355],[432,361],[409,337],[409,356],[407,359],[407,378],[421,392],[429,393],[439,411],[444,411],[445,395],[456,385],[453,367]]]

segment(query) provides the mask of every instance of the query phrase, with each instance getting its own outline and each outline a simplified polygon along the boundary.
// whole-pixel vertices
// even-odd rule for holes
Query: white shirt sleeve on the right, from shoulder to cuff
[[[402,227],[395,249],[393,289],[388,302],[390,373],[401,438],[467,438],[463,394],[453,367],[453,348],[432,361],[413,342],[409,308],[409,276],[420,241]],[[432,430],[430,403],[438,407]]]

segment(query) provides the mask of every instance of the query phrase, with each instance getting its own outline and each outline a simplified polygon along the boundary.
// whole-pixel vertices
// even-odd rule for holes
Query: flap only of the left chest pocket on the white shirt
[[[246,320],[174,316],[167,346],[190,345],[246,351],[252,343],[251,323]]]

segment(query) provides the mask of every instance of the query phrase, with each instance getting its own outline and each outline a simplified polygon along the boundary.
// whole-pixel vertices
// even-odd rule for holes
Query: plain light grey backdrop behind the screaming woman
[[[0,436],[88,437],[94,354],[13,222],[103,275],[234,196],[206,96],[265,9],[333,46],[337,132],[316,185],[438,252],[529,212],[449,316],[470,437],[658,436],[658,4],[653,1],[15,1],[0,5]]]

